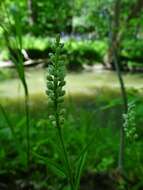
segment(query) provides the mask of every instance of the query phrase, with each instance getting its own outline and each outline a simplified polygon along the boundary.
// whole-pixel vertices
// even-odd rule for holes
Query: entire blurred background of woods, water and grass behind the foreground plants
[[[66,55],[65,141],[72,160],[95,134],[81,180],[82,190],[142,190],[142,0],[0,1],[0,189],[27,188],[24,89],[14,64],[19,58],[30,97],[32,187],[64,189],[64,179],[55,177],[46,162],[33,154],[39,151],[53,160],[60,159],[52,143],[56,137],[48,121],[45,94],[49,54],[54,52],[57,34],[64,43],[62,54]],[[124,94],[119,79],[126,99],[135,106],[138,133],[137,140],[126,142],[124,167],[128,180],[115,175],[119,130],[124,122]],[[21,144],[20,153],[11,126]],[[48,135],[50,140],[43,141]]]

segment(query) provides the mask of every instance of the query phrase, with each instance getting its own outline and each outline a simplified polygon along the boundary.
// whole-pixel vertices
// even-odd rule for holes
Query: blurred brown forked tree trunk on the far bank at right
[[[107,57],[105,59],[105,65],[108,68],[111,68],[115,70],[115,65],[113,62],[113,49],[115,49],[118,59],[120,59],[120,46],[121,46],[121,41],[124,36],[124,33],[126,32],[127,28],[130,28],[130,20],[133,18],[139,17],[142,9],[143,9],[143,0],[138,0],[130,9],[129,16],[125,20],[124,23],[122,23],[123,30],[119,31],[119,17],[120,17],[120,0],[116,0],[115,6],[114,6],[114,13],[113,16],[109,17],[108,15],[108,22],[109,22],[109,31],[110,31],[110,36],[109,36],[109,48],[107,52]],[[112,22],[112,23],[111,23]],[[124,70],[124,67],[122,64],[119,63],[119,67],[121,70]]]

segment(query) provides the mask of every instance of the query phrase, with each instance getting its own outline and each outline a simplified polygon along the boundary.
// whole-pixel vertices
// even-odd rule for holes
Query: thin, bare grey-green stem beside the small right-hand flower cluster
[[[128,111],[128,100],[127,100],[127,93],[124,84],[124,80],[122,77],[121,69],[120,69],[120,62],[119,62],[119,27],[120,27],[120,11],[121,11],[121,0],[116,0],[114,5],[114,19],[112,25],[109,24],[109,46],[110,46],[110,54],[112,54],[112,60],[114,62],[115,70],[117,73],[117,77],[120,84],[122,100],[124,105],[124,113],[126,114]],[[112,20],[111,16],[108,16],[109,23]],[[124,152],[125,152],[125,134],[124,134],[124,127],[123,125],[120,127],[120,143],[119,143],[119,156],[118,156],[118,170],[120,173],[123,173],[124,169]]]

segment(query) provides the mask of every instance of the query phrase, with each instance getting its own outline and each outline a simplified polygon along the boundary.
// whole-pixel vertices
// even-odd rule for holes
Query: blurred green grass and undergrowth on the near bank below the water
[[[119,119],[119,115],[121,116],[121,113],[119,114],[119,108],[116,107],[116,109],[114,108],[113,110],[110,108],[106,111],[100,111],[100,109],[98,109],[98,112],[95,113],[94,110],[97,107],[93,105],[93,109],[91,109],[89,113],[87,112],[88,101],[84,102],[83,105],[78,101],[76,104],[73,100],[72,102],[73,103],[70,101],[66,104],[67,113],[65,127],[63,128],[65,144],[70,153],[70,159],[77,159],[77,154],[81,151],[85,143],[91,140],[90,134],[92,134],[94,135],[94,142],[90,144],[86,165],[84,166],[84,176],[88,175],[88,171],[95,173],[114,171],[117,163],[119,136],[117,126],[119,121],[115,121],[114,118],[116,117]],[[47,120],[47,115],[49,115],[51,111],[49,109],[47,110],[45,101],[40,99],[39,101],[37,99],[36,102],[31,103],[31,105],[30,138],[32,141],[31,162],[33,166],[31,180],[39,187],[39,190],[62,188],[62,185],[64,186],[65,184],[63,173],[65,169],[63,168],[64,171],[62,169],[62,155],[59,149],[57,133],[55,132],[56,129],[53,128],[52,123]],[[107,103],[104,102],[103,105],[107,105]],[[141,102],[139,105],[141,105]],[[137,107],[138,105],[136,109]],[[0,175],[2,175],[2,173],[5,173],[6,176],[12,175],[14,182],[19,178],[20,173],[25,171],[26,166],[26,155],[24,153],[25,131],[23,128],[25,127],[25,118],[23,116],[23,103],[21,103],[20,106],[18,102],[11,102],[9,105],[5,105],[5,110],[9,113],[11,122],[14,124],[21,151],[17,152],[17,144],[14,143],[11,131],[0,113],[0,137],[2,144],[0,151],[0,161],[2,163],[0,166]],[[18,113],[17,110],[19,110]],[[104,123],[102,120],[103,117]],[[142,118],[142,115],[140,117]],[[137,124],[137,126],[139,125]],[[139,139],[135,141],[134,144],[127,144],[125,167],[129,179],[136,185],[139,181],[142,181],[142,146],[143,143],[140,132]],[[78,168],[80,167],[79,163],[80,161],[76,164]],[[17,175],[14,173],[17,173]],[[24,181],[24,178],[25,175],[21,176],[22,181]],[[133,189],[134,186],[130,187],[130,189]]]

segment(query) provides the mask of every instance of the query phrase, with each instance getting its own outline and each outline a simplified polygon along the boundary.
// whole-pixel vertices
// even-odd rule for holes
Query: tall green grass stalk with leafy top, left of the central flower
[[[17,7],[18,8],[18,7]],[[8,24],[5,23],[2,25],[2,28],[4,30],[4,38],[7,45],[7,48],[11,54],[11,60],[13,61],[16,71],[18,73],[19,79],[21,81],[22,87],[24,89],[24,106],[25,106],[25,117],[26,117],[26,154],[27,154],[27,172],[28,172],[28,179],[27,183],[29,184],[29,170],[30,170],[30,115],[29,115],[29,93],[28,93],[28,86],[26,82],[26,76],[25,76],[25,68],[24,68],[24,62],[23,62],[23,56],[22,56],[22,27],[21,27],[21,20],[20,20],[20,11],[19,9],[16,9],[13,14],[13,21],[14,21],[14,27],[15,27],[15,36],[14,41],[12,43],[12,40],[10,38],[11,36],[11,28],[13,28],[13,24],[10,19],[10,13],[8,12],[6,6],[4,6],[4,10],[6,12],[6,16],[8,18]],[[17,49],[17,58],[14,57],[13,50]]]

